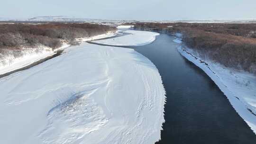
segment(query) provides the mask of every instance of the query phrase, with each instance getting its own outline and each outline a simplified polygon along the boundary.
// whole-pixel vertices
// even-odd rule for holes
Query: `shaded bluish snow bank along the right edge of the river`
[[[174,42],[180,44],[177,47],[180,54],[201,68],[216,83],[239,116],[256,134],[256,77],[247,72],[236,72],[218,63],[202,60],[192,49],[182,45],[181,34],[176,36]]]

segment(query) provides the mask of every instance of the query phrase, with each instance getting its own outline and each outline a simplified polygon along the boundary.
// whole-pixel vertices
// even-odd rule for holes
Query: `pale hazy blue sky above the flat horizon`
[[[256,0],[1,0],[0,18],[256,19]]]

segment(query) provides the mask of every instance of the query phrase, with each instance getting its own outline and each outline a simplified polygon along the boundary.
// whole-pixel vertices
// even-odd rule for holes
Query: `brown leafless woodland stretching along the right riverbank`
[[[256,74],[256,24],[137,23],[135,28],[182,33],[183,42],[201,58]]]

